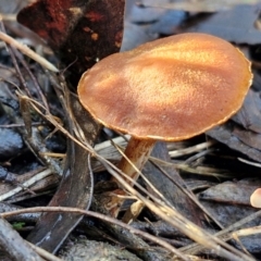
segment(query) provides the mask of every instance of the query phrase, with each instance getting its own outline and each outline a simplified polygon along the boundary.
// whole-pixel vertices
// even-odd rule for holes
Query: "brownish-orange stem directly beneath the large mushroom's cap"
[[[137,181],[139,174],[129,163],[129,161],[138,169],[141,170],[145,163],[148,161],[151,150],[154,147],[153,139],[138,139],[132,137],[128,141],[128,145],[124,151],[125,157],[122,158],[117,167],[124,172],[126,175],[132,177],[133,181]],[[128,184],[132,184],[130,181],[124,178]],[[114,179],[115,181],[115,179]],[[116,181],[115,181],[116,182]]]

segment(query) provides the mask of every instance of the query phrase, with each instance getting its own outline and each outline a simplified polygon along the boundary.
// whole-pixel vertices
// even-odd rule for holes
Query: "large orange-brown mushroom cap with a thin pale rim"
[[[188,33],[101,60],[83,74],[78,96],[109,128],[176,141],[228,120],[251,79],[250,62],[233,45]]]

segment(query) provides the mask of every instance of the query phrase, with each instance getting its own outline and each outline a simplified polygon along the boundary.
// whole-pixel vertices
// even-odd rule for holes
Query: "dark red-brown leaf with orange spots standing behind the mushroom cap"
[[[17,21],[41,36],[73,64],[75,79],[98,60],[121,47],[124,0],[39,0]],[[72,70],[72,69],[71,69]]]

